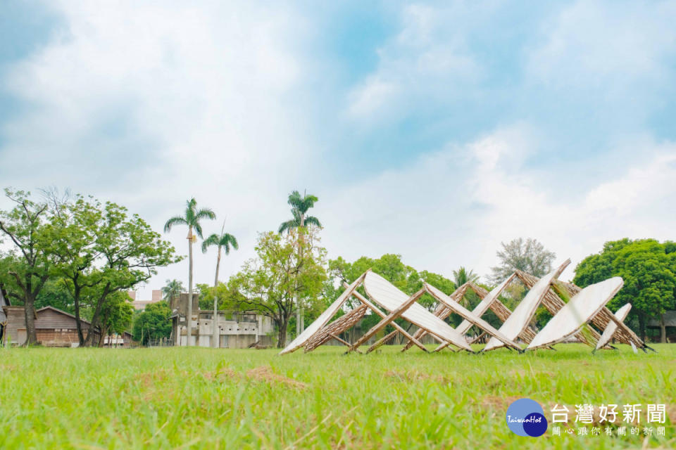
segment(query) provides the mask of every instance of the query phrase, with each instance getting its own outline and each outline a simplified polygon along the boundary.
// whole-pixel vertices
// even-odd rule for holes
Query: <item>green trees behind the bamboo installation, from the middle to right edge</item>
[[[501,249],[496,252],[499,264],[486,277],[487,283],[481,283],[477,274],[464,267],[453,271],[453,276],[447,278],[408,266],[402,262],[400,255],[394,254],[377,259],[361,257],[354,262],[347,262],[342,257],[326,260],[325,250],[318,245],[319,231],[318,227],[313,226],[301,229],[300,233],[305,234],[300,239],[298,236],[284,237],[271,232],[262,233],[256,247],[256,258],[247,262],[242,271],[230,277],[226,283],[218,283],[215,288],[199,286],[201,302],[206,306],[216,301],[219,309],[255,310],[273,317],[279,330],[277,345],[281,347],[287,341],[287,328],[296,325],[298,319],[294,318],[293,313],[298,311],[298,305],[304,309],[304,319],[313,321],[343,292],[343,282],[353,282],[367,269],[373,269],[409,295],[418,291],[423,281],[450,294],[466,281],[473,281],[490,290],[515,270],[544,276],[551,271],[556,258],[553,252],[544,248],[537,240],[517,238],[501,244]],[[314,245],[299,252],[299,243]],[[608,307],[616,311],[622,304],[631,302],[632,312],[627,318],[628,325],[646,339],[646,323],[649,319],[656,319],[662,323],[661,341],[666,342],[664,314],[676,309],[675,250],[675,243],[659,243],[652,239],[608,242],[601,253],[580,262],[575,269],[573,281],[585,287],[613,276],[622,276],[625,286]],[[299,259],[303,254],[308,255],[309,260]],[[307,278],[298,277],[299,267],[306,264],[312,266],[313,270],[305,272]],[[364,294],[363,288],[359,290]],[[503,292],[501,301],[513,310],[526,293],[525,286],[515,281]],[[423,295],[419,302],[430,311],[437,306],[429,295]],[[480,302],[480,298],[470,290],[463,302],[471,310]],[[356,306],[349,302],[348,304]],[[365,316],[363,328],[375,325],[378,319],[380,318],[375,315]],[[501,321],[492,311],[488,311],[484,319],[496,328],[501,326]],[[534,316],[533,326],[542,328],[549,319],[549,312],[540,307]],[[460,318],[455,315],[447,320],[451,326],[457,326],[460,322]],[[403,319],[397,321],[401,326],[408,326]],[[301,329],[302,327],[296,328],[296,333]],[[386,333],[391,330],[386,330]]]

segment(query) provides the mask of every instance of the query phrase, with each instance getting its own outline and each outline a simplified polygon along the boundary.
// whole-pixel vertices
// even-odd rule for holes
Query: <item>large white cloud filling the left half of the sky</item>
[[[194,195],[219,216],[206,229],[227,216],[242,245],[227,277],[314,176],[303,173],[319,155],[294,101],[312,76],[303,49],[312,25],[288,5],[246,1],[49,5],[63,27],[6,79],[30,107],[2,124],[0,164],[13,167],[4,184],[70,186],[156,229]],[[182,253],[184,236],[169,236]],[[213,259],[198,256],[197,281],[211,282]],[[155,283],[186,271],[177,264]]]

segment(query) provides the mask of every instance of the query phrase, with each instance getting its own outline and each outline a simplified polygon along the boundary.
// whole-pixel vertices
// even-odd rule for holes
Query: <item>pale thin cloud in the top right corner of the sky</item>
[[[553,86],[626,92],[627,84],[663,79],[676,50],[673,2],[578,1],[542,23],[544,39],[527,70]],[[667,64],[665,64],[667,63]],[[615,90],[617,89],[617,90]]]

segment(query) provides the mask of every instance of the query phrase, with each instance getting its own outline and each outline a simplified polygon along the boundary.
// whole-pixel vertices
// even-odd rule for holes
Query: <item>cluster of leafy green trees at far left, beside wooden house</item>
[[[54,190],[37,197],[9,188],[5,193],[13,207],[0,211],[8,248],[0,253],[0,288],[11,302],[25,305],[27,345],[37,343],[36,303],[49,302],[73,312],[81,346],[102,345],[105,335],[130,326],[127,290],[182,259],[146,221],[117,203]],[[94,327],[101,330],[98,341]]]

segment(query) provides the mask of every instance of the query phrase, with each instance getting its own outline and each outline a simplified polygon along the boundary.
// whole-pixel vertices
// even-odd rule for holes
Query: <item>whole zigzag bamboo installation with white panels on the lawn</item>
[[[407,341],[401,349],[402,352],[413,346],[428,352],[427,347],[420,341],[427,335],[439,343],[434,352],[450,347],[454,347],[456,351],[475,352],[470,344],[484,338],[488,342],[484,349],[480,350],[482,352],[499,347],[523,352],[525,350],[523,345],[526,345],[528,349],[551,348],[551,345],[563,342],[570,337],[589,345],[594,351],[614,349],[615,347],[611,345],[612,340],[634,345],[644,351],[651,349],[622,322],[627,316],[630,304],[622,307],[616,314],[606,308],[606,303],[621,287],[621,278],[619,284],[613,281],[614,284],[609,285],[611,281],[608,280],[583,290],[572,283],[558,281],[558,276],[568,264],[570,260],[543,278],[537,278],[524,271],[515,271],[490,292],[476,283],[468,282],[448,294],[423,281],[423,287],[418,292],[406,295],[389,281],[368,270],[350,285],[344,282],[344,293],[280,354],[294,352],[300,347],[303,347],[306,353],[312,352],[331,340],[344,345],[348,353],[358,352],[359,347],[387,326],[392,326],[394,330],[377,339],[368,347],[366,353],[373,352],[392,341],[397,335],[401,335]],[[513,311],[510,311],[499,300],[499,297],[513,282],[522,283],[528,293],[524,300],[517,304]],[[603,288],[602,284],[607,285],[608,288]],[[599,287],[596,287],[597,285]],[[360,287],[364,288],[366,296],[357,290]],[[479,304],[472,311],[465,309],[461,304],[469,290],[480,298]],[[429,311],[418,303],[425,293],[436,300],[434,311]],[[358,306],[345,310],[346,302],[351,297],[358,301]],[[532,318],[541,304],[553,318],[542,330],[537,330],[532,324]],[[482,319],[488,310],[491,310],[501,321],[500,328],[494,328]],[[343,314],[338,314],[339,311],[343,311]],[[381,320],[354,342],[348,342],[349,338],[346,340],[341,337],[343,333],[358,326],[366,314],[375,314]],[[456,328],[452,328],[445,321],[453,314],[463,319]],[[337,315],[339,317],[331,321]],[[408,328],[416,327],[415,331],[409,333],[399,323],[396,323],[395,319],[404,319],[411,324]],[[472,328],[479,331],[478,336],[467,334]]]

